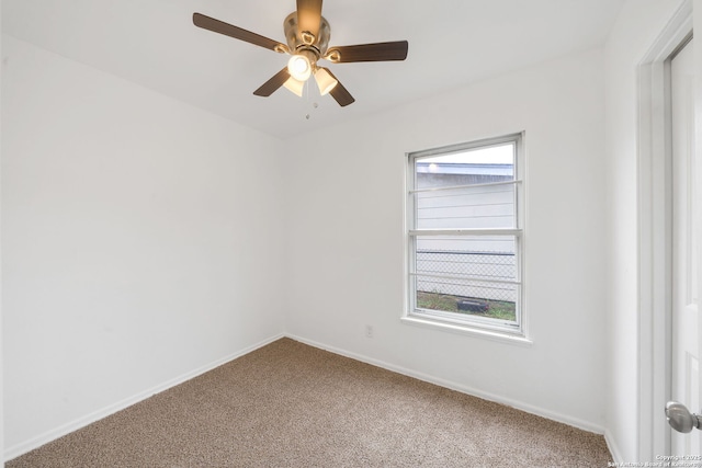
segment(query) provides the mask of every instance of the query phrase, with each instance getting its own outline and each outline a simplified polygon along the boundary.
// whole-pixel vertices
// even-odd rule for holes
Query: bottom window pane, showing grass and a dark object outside
[[[418,276],[417,308],[517,320],[519,286]]]

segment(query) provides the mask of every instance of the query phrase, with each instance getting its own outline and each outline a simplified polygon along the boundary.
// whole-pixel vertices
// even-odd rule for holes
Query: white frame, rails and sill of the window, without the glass
[[[524,281],[523,281],[523,259],[524,259],[524,182],[523,182],[523,133],[511,134],[496,138],[480,139],[465,144],[451,145],[441,148],[434,148],[422,151],[408,152],[407,157],[407,190],[406,190],[406,307],[403,315],[403,321],[410,324],[428,326],[448,331],[456,331],[461,333],[478,334],[486,338],[496,338],[499,340],[508,340],[511,342],[526,343],[531,342],[526,339],[525,320],[524,320]],[[417,229],[417,207],[416,194],[423,190],[417,190],[416,161],[432,156],[450,155],[462,152],[469,149],[487,148],[503,144],[514,144],[514,178],[512,181],[495,182],[479,185],[513,185],[514,186],[514,227],[512,228],[492,228],[492,229]],[[472,185],[472,186],[479,186]],[[430,189],[431,190],[431,189]],[[458,315],[455,312],[442,312],[438,310],[420,309],[417,307],[416,290],[416,239],[418,236],[513,236],[516,244],[517,261],[517,278],[513,282],[507,282],[517,286],[516,300],[516,320],[507,321],[492,318],[485,318],[474,315]],[[479,279],[484,282],[484,279]],[[488,281],[488,283],[500,281]]]

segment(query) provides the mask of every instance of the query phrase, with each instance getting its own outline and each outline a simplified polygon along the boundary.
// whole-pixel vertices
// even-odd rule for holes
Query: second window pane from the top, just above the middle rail
[[[417,228],[513,228],[514,190],[512,184],[416,193]]]

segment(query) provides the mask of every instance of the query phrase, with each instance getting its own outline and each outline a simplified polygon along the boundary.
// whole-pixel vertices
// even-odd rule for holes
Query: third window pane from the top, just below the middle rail
[[[418,236],[415,273],[518,281],[513,236]]]

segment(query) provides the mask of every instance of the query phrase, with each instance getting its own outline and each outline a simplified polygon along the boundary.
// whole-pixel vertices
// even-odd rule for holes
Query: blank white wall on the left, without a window
[[[3,37],[18,455],[283,332],[280,141]]]

